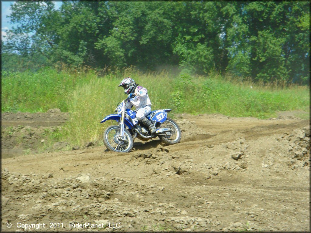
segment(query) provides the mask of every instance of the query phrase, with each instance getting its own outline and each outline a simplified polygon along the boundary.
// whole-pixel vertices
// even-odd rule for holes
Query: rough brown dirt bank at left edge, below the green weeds
[[[1,115],[2,158],[38,153],[38,148],[53,151],[66,148],[68,144],[47,145],[47,138],[57,136],[61,125],[69,119],[67,112],[58,108],[46,113],[3,112]]]

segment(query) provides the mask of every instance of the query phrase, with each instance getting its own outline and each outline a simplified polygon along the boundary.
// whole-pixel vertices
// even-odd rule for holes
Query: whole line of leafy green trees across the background
[[[307,83],[309,1],[16,1],[2,69],[170,66]],[[21,60],[24,59],[24,60]]]

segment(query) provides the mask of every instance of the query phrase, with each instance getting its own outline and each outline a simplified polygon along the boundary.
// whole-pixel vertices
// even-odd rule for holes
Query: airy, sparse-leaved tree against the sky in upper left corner
[[[4,50],[27,56],[40,53],[50,60],[57,41],[59,14],[52,1],[16,1],[8,16],[16,28],[7,32]]]

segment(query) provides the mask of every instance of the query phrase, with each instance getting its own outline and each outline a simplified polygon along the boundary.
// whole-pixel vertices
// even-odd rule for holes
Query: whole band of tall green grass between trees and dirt
[[[95,71],[60,64],[37,73],[2,73],[2,112],[44,112],[58,107],[70,113],[70,120],[57,140],[78,145],[101,140],[104,128],[116,122],[100,121],[126,98],[117,86],[128,76],[148,89],[152,109],[172,108],[173,113],[267,118],[275,116],[275,111],[309,109],[306,86],[254,84],[215,72],[203,77],[165,71],[142,73],[135,67]]]

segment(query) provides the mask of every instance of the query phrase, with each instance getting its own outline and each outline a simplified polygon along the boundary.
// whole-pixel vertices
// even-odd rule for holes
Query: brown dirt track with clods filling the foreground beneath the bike
[[[86,230],[69,222],[104,231],[310,231],[308,120],[176,121],[182,141],[172,146],[135,140],[131,153],[101,146],[2,159],[2,231],[7,223],[23,230],[17,222],[45,223],[33,231]]]

